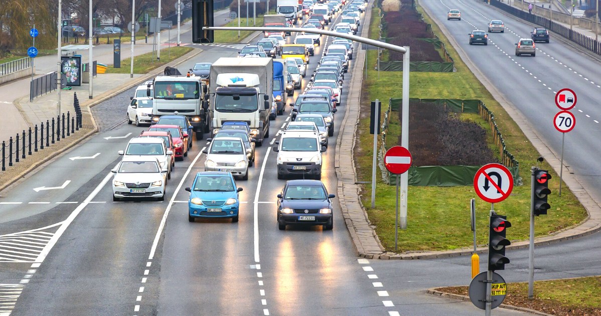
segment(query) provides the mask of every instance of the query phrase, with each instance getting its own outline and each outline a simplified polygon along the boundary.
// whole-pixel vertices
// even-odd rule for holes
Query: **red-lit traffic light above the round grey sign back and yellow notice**
[[[489,231],[489,270],[505,270],[509,259],[505,257],[505,246],[511,245],[505,239],[505,230],[511,227],[507,216],[491,215]]]

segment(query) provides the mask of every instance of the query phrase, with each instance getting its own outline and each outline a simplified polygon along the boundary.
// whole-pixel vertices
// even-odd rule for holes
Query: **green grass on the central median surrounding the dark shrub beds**
[[[421,11],[421,10],[420,10]],[[422,11],[423,13],[423,11]],[[511,240],[526,240],[529,236],[529,209],[530,209],[530,176],[531,165],[536,164],[539,156],[522,130],[508,116],[505,110],[497,103],[492,95],[476,79],[456,50],[442,36],[438,26],[427,16],[426,22],[432,24],[435,33],[441,37],[448,52],[456,62],[455,73],[410,73],[411,98],[451,98],[451,99],[478,99],[482,100],[489,109],[495,113],[496,122],[505,139],[508,151],[516,156],[520,162],[520,175],[523,178],[522,186],[514,186],[513,192],[507,200],[495,204],[495,210],[501,215],[507,215],[512,227],[509,228],[507,237]],[[373,12],[370,26],[370,37],[377,37],[379,16]],[[374,70],[377,56],[375,50],[368,51],[368,79],[364,80],[362,96],[362,116],[358,126],[358,144],[355,147],[355,163],[357,167],[357,180],[371,180],[371,163],[373,150],[373,136],[369,134],[368,102],[379,98],[388,106],[389,98],[402,96],[401,82],[403,73]],[[484,125],[477,115],[462,115],[462,119],[471,119]],[[484,125],[485,127],[487,125]],[[486,127],[490,136],[490,128]],[[397,144],[400,134],[398,113],[392,112],[391,127],[388,131],[386,145],[389,147]],[[494,148],[494,147],[492,147]],[[418,150],[409,148],[409,150]],[[495,148],[498,154],[498,149]],[[551,170],[548,164],[543,163],[542,168],[549,169],[553,179],[549,188],[549,215],[542,215],[535,219],[535,235],[543,236],[558,230],[578,224],[583,221],[587,212],[579,203],[565,183],[561,197],[558,197],[559,176]],[[363,186],[362,203],[367,209],[370,221],[376,225],[376,232],[388,251],[394,251],[394,221],[395,221],[395,187],[382,182],[378,169],[378,182],[376,191],[376,207],[371,208],[371,185]],[[410,186],[407,192],[407,230],[400,230],[398,234],[399,249],[402,251],[427,251],[465,248],[472,245],[472,232],[469,224],[469,200],[476,198],[477,243],[487,243],[488,213],[490,203],[485,203],[477,197],[472,186],[454,187],[426,187]]]

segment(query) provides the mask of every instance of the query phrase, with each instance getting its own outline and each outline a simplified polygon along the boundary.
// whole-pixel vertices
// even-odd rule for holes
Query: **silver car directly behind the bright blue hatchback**
[[[224,137],[213,139],[209,148],[204,149],[207,158],[204,161],[205,171],[231,172],[242,180],[248,180],[248,156],[241,139]]]

